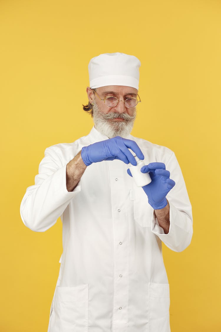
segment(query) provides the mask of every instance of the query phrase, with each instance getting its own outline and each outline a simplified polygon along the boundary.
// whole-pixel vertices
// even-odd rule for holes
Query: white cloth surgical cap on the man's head
[[[90,88],[125,85],[138,90],[140,61],[125,53],[104,53],[93,57],[88,64]]]

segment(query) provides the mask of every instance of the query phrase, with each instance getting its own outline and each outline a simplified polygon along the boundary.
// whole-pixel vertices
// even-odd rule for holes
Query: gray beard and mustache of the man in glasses
[[[137,116],[137,109],[135,107],[134,115],[130,116],[125,113],[116,113],[110,112],[107,114],[103,114],[96,101],[94,101],[93,106],[93,122],[94,127],[101,134],[113,138],[115,136],[121,136],[126,138],[130,133],[134,126],[134,121]],[[124,121],[112,121],[110,119],[122,118]]]

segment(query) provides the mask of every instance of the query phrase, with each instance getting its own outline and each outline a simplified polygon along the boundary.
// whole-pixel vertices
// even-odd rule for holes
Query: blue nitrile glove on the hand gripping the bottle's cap
[[[137,161],[128,148],[132,149],[139,159],[144,159],[144,155],[135,141],[120,136],[84,146],[81,156],[86,166],[98,161],[114,159],[122,160],[126,164],[130,162],[136,166]]]

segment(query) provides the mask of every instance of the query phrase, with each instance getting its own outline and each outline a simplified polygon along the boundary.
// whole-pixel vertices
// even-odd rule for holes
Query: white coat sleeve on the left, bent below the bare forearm
[[[69,202],[81,191],[81,180],[72,192],[66,187],[66,166],[55,146],[45,149],[35,176],[35,184],[26,189],[20,206],[24,224],[33,231],[44,232],[53,226]]]

